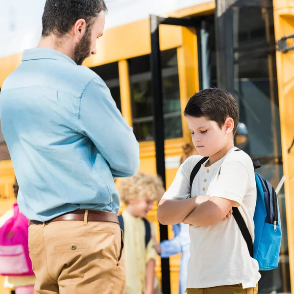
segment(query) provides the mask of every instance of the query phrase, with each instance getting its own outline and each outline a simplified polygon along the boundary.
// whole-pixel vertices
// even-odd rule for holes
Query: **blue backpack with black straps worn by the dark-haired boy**
[[[191,172],[191,190],[197,172],[207,159],[208,157],[203,157]],[[254,161],[253,166],[254,169],[261,167],[258,161]],[[282,241],[278,196],[270,183],[257,172],[255,172],[255,181],[257,198],[253,217],[254,244],[238,207],[233,207],[233,216],[246,241],[250,256],[258,261],[259,270],[273,270],[278,267]]]

